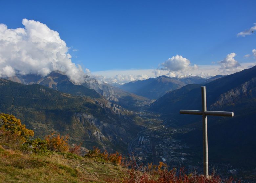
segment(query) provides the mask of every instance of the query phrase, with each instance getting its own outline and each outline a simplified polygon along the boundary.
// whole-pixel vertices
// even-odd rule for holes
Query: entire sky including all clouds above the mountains
[[[105,82],[231,74],[256,63],[256,1],[6,1],[0,77]]]

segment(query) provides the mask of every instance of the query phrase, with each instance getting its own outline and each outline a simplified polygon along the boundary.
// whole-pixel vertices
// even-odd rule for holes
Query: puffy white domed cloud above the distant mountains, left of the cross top
[[[186,71],[191,69],[197,69],[197,65],[191,66],[189,59],[182,57],[181,55],[173,56],[162,63],[162,70],[169,71]]]

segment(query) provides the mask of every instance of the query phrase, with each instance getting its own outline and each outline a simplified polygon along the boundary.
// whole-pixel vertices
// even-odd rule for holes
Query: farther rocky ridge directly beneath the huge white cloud
[[[102,98],[103,96],[110,102],[127,109],[137,109],[141,105],[150,104],[150,100],[145,97],[126,92],[89,76],[84,78],[84,83],[82,84],[73,83],[64,73],[58,71],[51,72],[45,77],[18,75],[7,79],[23,84],[40,84],[60,92],[78,96],[89,96],[91,98]]]

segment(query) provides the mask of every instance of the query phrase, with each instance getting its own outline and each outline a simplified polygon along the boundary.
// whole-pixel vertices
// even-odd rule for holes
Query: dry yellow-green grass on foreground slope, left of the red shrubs
[[[127,169],[71,153],[23,154],[0,146],[0,180],[14,182],[122,182]]]

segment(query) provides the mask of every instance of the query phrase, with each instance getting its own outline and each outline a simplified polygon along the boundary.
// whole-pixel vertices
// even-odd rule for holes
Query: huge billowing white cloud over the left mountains
[[[59,70],[76,83],[83,81],[85,73],[71,61],[58,32],[34,20],[23,19],[22,24],[25,28],[8,29],[0,24],[0,77],[46,76]]]

